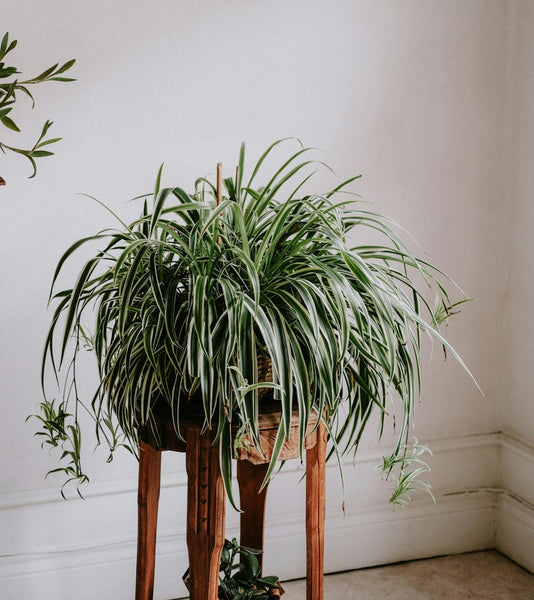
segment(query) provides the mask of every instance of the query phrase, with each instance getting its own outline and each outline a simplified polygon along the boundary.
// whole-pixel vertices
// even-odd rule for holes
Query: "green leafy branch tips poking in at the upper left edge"
[[[6,55],[11,52],[17,45],[17,40],[9,41],[9,34],[6,33],[2,38],[2,42],[0,43],[0,80],[11,79],[11,81],[2,81],[0,83],[0,122],[4,127],[10,129],[11,131],[20,132],[19,126],[13,121],[10,113],[14,108],[15,102],[17,100],[17,92],[22,92],[28,98],[30,98],[32,103],[32,108],[35,106],[35,99],[30,92],[29,86],[43,83],[45,81],[75,81],[70,77],[64,77],[62,74],[68,71],[72,65],[74,65],[75,60],[69,60],[63,65],[59,65],[56,63],[55,65],[49,67],[45,71],[43,71],[40,75],[36,77],[31,77],[30,79],[25,79],[20,81],[16,76],[20,74],[20,71],[17,67],[10,67],[5,62],[4,59]],[[7,150],[11,152],[15,152],[17,154],[21,154],[26,157],[33,168],[33,172],[30,177],[35,177],[37,173],[37,165],[35,159],[43,158],[45,156],[52,156],[54,153],[51,152],[48,148],[43,150],[46,146],[50,144],[54,144],[58,142],[61,138],[46,138],[48,130],[52,126],[52,121],[46,121],[43,125],[41,133],[37,138],[37,141],[33,144],[31,148],[23,149],[17,148],[15,146],[9,146],[0,140],[0,150],[5,154]],[[5,185],[5,181],[0,177],[0,185]]]

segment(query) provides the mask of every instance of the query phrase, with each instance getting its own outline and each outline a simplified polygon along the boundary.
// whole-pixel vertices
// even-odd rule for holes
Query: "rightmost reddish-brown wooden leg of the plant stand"
[[[323,600],[326,427],[306,451],[306,600]]]

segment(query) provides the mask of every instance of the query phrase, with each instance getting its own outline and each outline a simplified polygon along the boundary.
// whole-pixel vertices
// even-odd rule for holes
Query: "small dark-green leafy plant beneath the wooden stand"
[[[225,540],[221,555],[219,600],[273,600],[284,593],[278,577],[261,576],[257,555],[261,550],[244,548],[235,538]],[[189,569],[183,576],[189,589]]]

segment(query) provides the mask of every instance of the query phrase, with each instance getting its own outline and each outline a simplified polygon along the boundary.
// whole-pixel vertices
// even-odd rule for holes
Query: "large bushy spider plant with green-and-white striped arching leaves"
[[[81,239],[61,257],[42,371],[43,383],[47,365],[62,382],[61,412],[56,419],[53,401],[46,401],[41,433],[45,443],[63,449],[69,480],[86,477],[81,407],[99,439],[112,449],[121,443],[135,449],[140,427],[157,436],[157,405],[168,406],[178,435],[181,411],[198,405],[204,428],[216,430],[231,500],[232,431],[259,444],[266,396],[281,410],[266,481],[294,409],[301,455],[315,412],[327,426],[330,455],[339,458],[356,452],[372,413],[383,425],[397,397],[402,419],[390,461],[405,456],[421,333],[461,362],[439,333],[453,306],[443,284],[448,279],[416,258],[387,218],[347,192],[358,177],[304,193],[317,166],[308,148],[288,153],[258,186],[266,159],[283,141],[260,156],[247,178],[243,145],[219,203],[223,190],[205,178],[192,193],[162,188],[160,169],[137,220],[119,219],[118,229]],[[377,244],[351,245],[364,230],[380,238]],[[65,261],[89,243],[101,249],[72,288],[55,292]],[[77,357],[87,347],[99,369],[90,402],[80,397],[76,377]],[[259,366],[265,360],[267,378]]]

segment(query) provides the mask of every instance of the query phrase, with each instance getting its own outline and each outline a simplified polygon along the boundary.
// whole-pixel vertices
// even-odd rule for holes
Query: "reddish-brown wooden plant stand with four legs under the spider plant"
[[[237,481],[241,500],[242,546],[263,550],[267,486],[260,487],[280,421],[275,408],[262,409],[260,439],[263,454],[254,447],[240,450]],[[219,447],[211,431],[202,433],[199,417],[185,419],[178,439],[169,419],[160,426],[156,445],[141,435],[138,490],[136,600],[152,600],[156,555],[156,529],[160,490],[161,451],[185,452],[187,470],[187,548],[191,600],[217,600],[219,565],[224,544],[225,493],[219,468]],[[317,420],[306,436],[306,600],[323,600],[326,428]],[[290,441],[280,460],[298,457],[298,415],[292,415]],[[258,557],[261,561],[261,555]],[[261,562],[260,562],[261,564]]]

